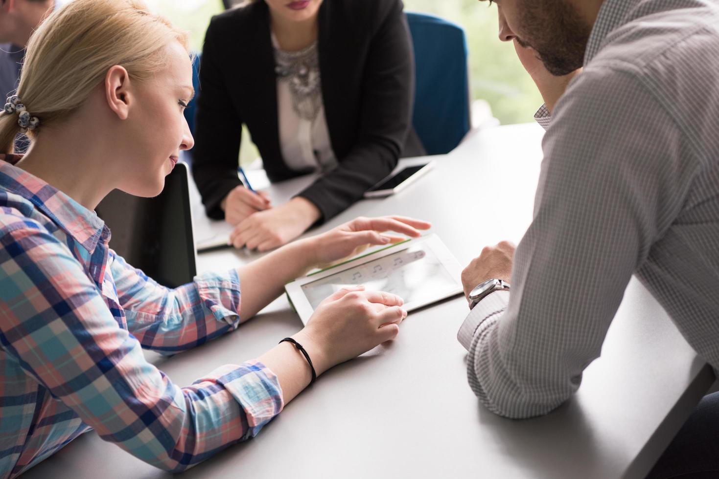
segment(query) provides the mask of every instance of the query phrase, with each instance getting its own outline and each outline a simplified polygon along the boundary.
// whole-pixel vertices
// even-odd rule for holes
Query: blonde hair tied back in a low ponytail
[[[40,118],[27,135],[33,139],[75,113],[114,65],[137,80],[151,78],[165,67],[161,52],[173,41],[188,50],[186,32],[151,14],[141,0],[73,0],[58,9],[27,45],[17,96]],[[12,153],[17,119],[0,113],[0,153]]]

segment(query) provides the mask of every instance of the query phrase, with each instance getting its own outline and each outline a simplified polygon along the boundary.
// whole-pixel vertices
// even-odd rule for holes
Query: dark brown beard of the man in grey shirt
[[[584,64],[592,26],[567,0],[524,0],[520,24],[526,37],[522,46],[539,54],[549,73],[563,76]]]

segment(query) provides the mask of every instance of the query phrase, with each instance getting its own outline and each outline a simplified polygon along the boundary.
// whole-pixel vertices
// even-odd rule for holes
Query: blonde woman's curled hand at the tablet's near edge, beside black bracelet
[[[407,317],[395,294],[340,289],[319,304],[307,326],[293,336],[312,359],[318,375],[369,351],[399,333]]]

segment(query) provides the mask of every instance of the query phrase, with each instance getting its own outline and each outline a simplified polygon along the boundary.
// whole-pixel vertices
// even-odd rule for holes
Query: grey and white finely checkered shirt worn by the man
[[[719,368],[719,3],[605,0],[547,128],[510,293],[459,331],[480,401],[546,414],[580,386],[635,274]]]

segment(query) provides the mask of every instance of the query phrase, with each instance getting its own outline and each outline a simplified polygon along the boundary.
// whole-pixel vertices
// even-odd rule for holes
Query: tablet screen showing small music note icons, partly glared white
[[[313,310],[339,289],[364,286],[367,291],[397,294],[405,304],[449,294],[457,282],[423,243],[304,284]]]

